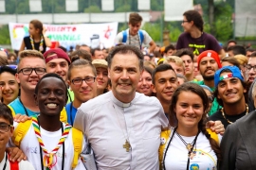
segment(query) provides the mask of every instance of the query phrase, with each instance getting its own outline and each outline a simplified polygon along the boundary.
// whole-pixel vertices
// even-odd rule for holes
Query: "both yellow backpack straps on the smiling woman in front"
[[[210,128],[206,128],[208,133],[210,134],[210,138],[212,138],[217,144],[219,144],[219,138],[218,135],[214,132],[211,131]],[[165,145],[167,144],[168,139],[170,138],[171,134],[171,129],[168,130],[163,130],[161,131],[161,136],[160,136],[160,146],[158,149],[158,155],[159,155],[159,169],[162,169],[162,161],[163,161],[163,152],[165,149]]]

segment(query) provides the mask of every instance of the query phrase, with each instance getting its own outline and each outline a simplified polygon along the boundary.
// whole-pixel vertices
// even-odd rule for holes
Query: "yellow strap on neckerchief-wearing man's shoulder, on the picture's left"
[[[20,147],[21,141],[23,140],[24,136],[27,133],[28,128],[31,126],[32,120],[27,120],[24,123],[19,123],[19,125],[15,128],[12,142]]]

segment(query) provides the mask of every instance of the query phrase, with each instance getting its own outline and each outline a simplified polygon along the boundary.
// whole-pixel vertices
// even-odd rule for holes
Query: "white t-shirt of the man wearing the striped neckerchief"
[[[18,124],[14,122],[14,127],[17,127]],[[53,150],[56,145],[58,144],[61,136],[62,136],[62,129],[58,131],[46,131],[43,127],[40,127],[41,136],[43,142],[46,146],[48,151]],[[82,150],[84,149],[85,141],[82,142]],[[23,138],[20,144],[21,150],[27,156],[27,161],[30,161],[36,170],[41,170],[41,157],[40,157],[40,145],[38,143],[37,137],[34,132],[33,125],[29,127],[25,137]],[[72,130],[69,131],[67,138],[64,141],[64,170],[71,170],[73,157],[74,157],[74,144],[72,140]],[[43,155],[45,153],[42,150]],[[53,157],[53,163],[55,161],[56,164],[52,167],[51,170],[61,170],[62,169],[62,161],[63,161],[63,145],[59,148],[58,152],[55,154],[56,156]],[[43,159],[44,159],[43,156]],[[46,169],[46,168],[45,168]],[[79,160],[78,165],[74,170],[84,170],[86,169],[81,160]]]

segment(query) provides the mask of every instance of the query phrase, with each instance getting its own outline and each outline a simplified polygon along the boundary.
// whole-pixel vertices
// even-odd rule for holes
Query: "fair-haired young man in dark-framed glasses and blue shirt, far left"
[[[36,50],[24,50],[20,60],[16,80],[20,83],[20,97],[9,103],[12,115],[17,113],[27,116],[39,114],[39,108],[33,98],[37,82],[46,74],[46,62],[43,55]]]

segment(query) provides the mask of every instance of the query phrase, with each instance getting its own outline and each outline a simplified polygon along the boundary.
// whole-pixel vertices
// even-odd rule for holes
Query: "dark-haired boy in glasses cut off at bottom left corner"
[[[29,161],[9,161],[9,154],[6,152],[6,145],[14,131],[13,117],[8,106],[0,103],[0,169],[34,170]]]

